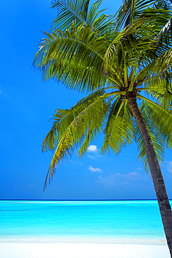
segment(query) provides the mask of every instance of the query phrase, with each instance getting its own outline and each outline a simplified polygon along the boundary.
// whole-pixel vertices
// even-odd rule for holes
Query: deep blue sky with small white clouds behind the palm
[[[113,14],[121,2],[104,0],[102,8]],[[84,158],[75,152],[62,162],[51,186],[42,191],[52,158],[41,150],[49,119],[56,108],[68,109],[83,97],[60,82],[42,82],[32,68],[41,31],[48,31],[56,17],[50,6],[50,0],[1,1],[0,199],[155,199],[136,146],[102,156],[102,137]],[[166,151],[162,172],[172,198],[171,151]]]

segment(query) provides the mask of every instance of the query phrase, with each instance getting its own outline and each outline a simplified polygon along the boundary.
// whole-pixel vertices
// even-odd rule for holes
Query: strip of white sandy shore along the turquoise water
[[[1,258],[170,258],[166,244],[0,243]]]

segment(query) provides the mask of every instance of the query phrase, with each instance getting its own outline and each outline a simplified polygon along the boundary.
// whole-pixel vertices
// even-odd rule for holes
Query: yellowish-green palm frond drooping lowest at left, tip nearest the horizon
[[[42,144],[45,151],[55,149],[45,185],[48,178],[49,182],[53,178],[56,165],[60,165],[61,160],[71,155],[76,147],[81,146],[85,137],[87,139],[84,147],[81,146],[80,154],[86,151],[89,142],[101,132],[108,112],[107,98],[109,98],[108,94],[97,91],[79,101],[69,110],[56,110],[52,130]],[[91,136],[89,139],[88,135]]]

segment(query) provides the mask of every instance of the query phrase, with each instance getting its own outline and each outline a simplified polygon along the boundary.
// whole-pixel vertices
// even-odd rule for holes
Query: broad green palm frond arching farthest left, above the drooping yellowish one
[[[104,36],[97,38],[89,27],[73,24],[70,30],[46,33],[33,63],[43,79],[61,80],[78,91],[93,91],[104,86],[102,61],[107,49]]]

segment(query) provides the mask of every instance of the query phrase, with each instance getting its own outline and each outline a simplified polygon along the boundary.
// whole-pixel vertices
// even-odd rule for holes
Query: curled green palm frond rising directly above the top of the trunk
[[[138,67],[140,63],[147,61],[151,52],[154,53],[157,48],[156,34],[153,30],[152,24],[136,20],[130,27],[125,27],[116,33],[104,54],[102,65],[104,75],[109,75],[111,70],[116,74],[115,68],[117,68],[121,77],[120,73],[123,73],[125,67]]]

